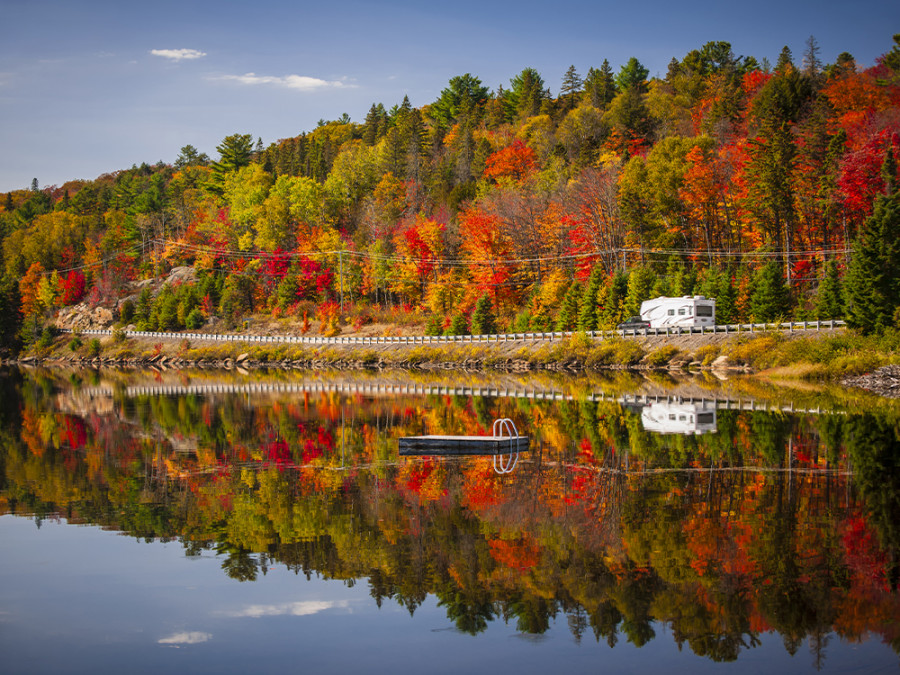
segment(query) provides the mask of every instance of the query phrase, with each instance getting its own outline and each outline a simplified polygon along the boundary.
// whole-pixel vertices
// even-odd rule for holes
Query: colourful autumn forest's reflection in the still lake
[[[3,512],[178,539],[239,581],[365,579],[410,614],[434,595],[472,634],[562,616],[611,647],[662,623],[715,661],[770,632],[815,660],[832,634],[900,651],[896,414],[718,410],[715,433],[660,435],[615,401],[0,387],[19,402],[0,412]],[[532,437],[510,475],[397,455],[496,417]]]

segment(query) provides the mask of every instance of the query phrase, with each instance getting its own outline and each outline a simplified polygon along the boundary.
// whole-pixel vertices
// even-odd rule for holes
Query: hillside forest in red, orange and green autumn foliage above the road
[[[720,323],[900,323],[900,35],[868,68],[811,37],[774,65],[709,42],[648,76],[573,66],[553,96],[533,68],[496,91],[466,73],[419,108],[227,136],[216,160],[35,179],[0,196],[3,344],[80,302],[150,330],[592,330],[687,294]]]

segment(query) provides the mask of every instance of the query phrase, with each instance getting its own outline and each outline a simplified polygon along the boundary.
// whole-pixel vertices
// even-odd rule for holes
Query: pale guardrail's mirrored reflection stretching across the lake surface
[[[696,396],[664,396],[650,394],[606,394],[595,392],[583,395],[567,394],[554,389],[511,389],[495,387],[441,387],[417,384],[361,384],[356,382],[303,382],[267,384],[189,384],[189,385],[133,385],[124,390],[112,387],[81,387],[80,392],[88,396],[113,396],[124,391],[125,396],[211,396],[215,394],[304,394],[340,393],[364,394],[367,396],[477,396],[491,398],[519,398],[536,401],[601,401],[621,403],[629,406],[648,406],[654,403],[700,405],[718,410],[759,410],[768,412],[807,413],[813,415],[831,414],[822,408],[798,408],[794,405],[782,406],[744,399],[728,399]]]

